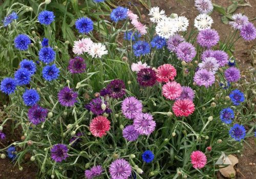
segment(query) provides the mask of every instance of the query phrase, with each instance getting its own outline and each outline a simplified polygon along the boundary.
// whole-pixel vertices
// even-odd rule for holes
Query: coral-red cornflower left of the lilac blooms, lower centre
[[[110,121],[104,116],[93,118],[90,123],[90,131],[94,137],[102,138],[110,130]]]

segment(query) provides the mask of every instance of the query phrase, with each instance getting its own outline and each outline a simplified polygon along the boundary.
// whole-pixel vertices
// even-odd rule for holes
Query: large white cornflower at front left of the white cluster
[[[173,36],[177,31],[177,22],[175,19],[170,17],[163,18],[156,26],[157,35],[166,39]]]

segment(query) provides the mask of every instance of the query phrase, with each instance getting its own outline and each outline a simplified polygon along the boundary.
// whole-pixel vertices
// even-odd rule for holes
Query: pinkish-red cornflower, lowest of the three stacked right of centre
[[[179,99],[176,100],[173,105],[173,111],[175,116],[185,116],[193,114],[195,110],[195,104],[190,99]]]

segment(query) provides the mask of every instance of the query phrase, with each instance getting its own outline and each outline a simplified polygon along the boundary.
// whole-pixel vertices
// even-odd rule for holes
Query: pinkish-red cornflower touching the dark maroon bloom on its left
[[[157,81],[168,82],[176,77],[176,69],[171,64],[163,64],[157,68]]]

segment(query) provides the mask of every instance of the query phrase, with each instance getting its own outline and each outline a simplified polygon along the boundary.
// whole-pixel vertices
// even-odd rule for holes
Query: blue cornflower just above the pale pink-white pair
[[[88,17],[81,17],[75,22],[76,29],[80,33],[89,33],[93,30],[93,21]]]

